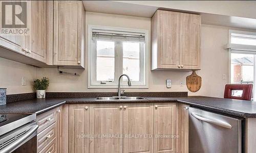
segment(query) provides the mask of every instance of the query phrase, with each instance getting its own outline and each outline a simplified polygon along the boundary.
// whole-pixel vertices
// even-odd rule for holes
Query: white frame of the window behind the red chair
[[[256,96],[256,46],[253,45],[241,45],[236,43],[231,43],[231,33],[244,34],[244,35],[253,35],[256,36],[255,32],[246,32],[246,31],[237,31],[237,30],[228,30],[228,43],[224,47],[228,49],[228,83],[231,83],[231,53],[237,54],[254,54],[254,74],[253,74],[253,98]]]

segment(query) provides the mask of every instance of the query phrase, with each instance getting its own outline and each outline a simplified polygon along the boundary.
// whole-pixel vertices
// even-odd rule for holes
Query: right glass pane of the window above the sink
[[[131,81],[140,81],[139,42],[123,42],[123,74],[127,74]]]

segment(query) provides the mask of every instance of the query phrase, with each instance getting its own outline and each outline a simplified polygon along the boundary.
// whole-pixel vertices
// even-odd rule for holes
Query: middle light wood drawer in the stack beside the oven
[[[56,124],[53,123],[37,135],[37,152],[56,137]]]

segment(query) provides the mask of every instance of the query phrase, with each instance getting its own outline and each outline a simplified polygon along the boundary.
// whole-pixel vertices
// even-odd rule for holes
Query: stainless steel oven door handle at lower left
[[[27,138],[29,138],[33,133],[37,130],[38,125],[34,125],[32,128],[28,130],[22,137],[18,138],[17,140],[13,141],[9,145],[5,146],[3,149],[0,150],[0,153],[2,152],[10,152],[15,147],[17,147],[19,144],[23,143]]]

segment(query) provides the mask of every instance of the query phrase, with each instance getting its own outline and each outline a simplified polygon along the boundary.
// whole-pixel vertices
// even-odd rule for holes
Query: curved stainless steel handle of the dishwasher
[[[223,121],[220,121],[220,120],[212,120],[212,119],[208,119],[207,116],[203,116],[203,115],[198,115],[196,113],[191,113],[192,116],[194,116],[195,118],[199,119],[199,120],[202,120],[204,122],[207,122],[207,123],[211,123],[211,124],[215,124],[215,125],[218,125],[218,126],[222,126],[222,127],[225,127],[225,128],[229,128],[231,129],[232,126],[228,123],[225,123]]]

